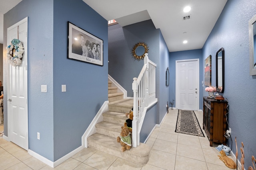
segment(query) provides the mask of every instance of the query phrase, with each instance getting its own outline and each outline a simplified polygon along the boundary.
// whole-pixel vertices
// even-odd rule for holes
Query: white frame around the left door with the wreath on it
[[[26,18],[24,18],[23,20],[21,20],[21,21],[18,21],[17,23],[15,23],[14,25],[12,25],[12,26],[10,26],[10,27],[8,27],[8,29],[7,29],[7,43],[10,43],[10,39],[9,39],[9,31],[10,30],[12,30],[12,29],[14,29],[15,27],[18,27],[18,25],[21,25],[22,23],[27,23],[27,25],[28,25],[28,17],[26,17]],[[28,68],[28,27],[26,27],[26,44],[24,44],[23,43],[23,46],[24,47],[26,47],[26,48],[24,48],[24,56],[23,57],[26,57],[26,62],[25,61],[22,61],[23,63],[22,63],[22,65],[25,65],[25,67],[26,67],[26,70],[27,70],[27,68]],[[9,86],[10,86],[10,84],[9,84],[9,74],[10,74],[10,72],[9,72],[9,67],[10,67],[10,64],[9,63],[7,63],[8,64],[8,66],[7,66],[7,75],[8,75],[8,85],[7,85],[7,96],[6,97],[8,97],[8,98],[10,98],[10,88],[9,88]],[[27,136],[27,140],[26,140],[26,145],[23,147],[24,149],[26,149],[26,150],[28,150],[28,72],[26,72],[26,75],[24,75],[24,77],[25,77],[25,84],[24,84],[24,89],[26,90],[26,92],[24,93],[24,94],[26,94],[26,96],[24,96],[25,98],[26,98],[26,122],[27,122],[27,124],[26,125],[24,125],[24,129],[26,130],[26,136]],[[7,100],[6,100],[7,101]],[[11,141],[12,140],[12,134],[10,133],[10,129],[11,129],[11,126],[12,126],[12,122],[11,122],[11,118],[10,118],[10,102],[8,102],[7,103],[7,108],[8,108],[8,113],[7,113],[7,117],[8,117],[8,141]]]

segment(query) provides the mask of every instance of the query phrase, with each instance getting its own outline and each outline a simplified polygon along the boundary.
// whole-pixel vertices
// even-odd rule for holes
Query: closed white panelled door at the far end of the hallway
[[[199,59],[176,61],[176,108],[199,108]]]

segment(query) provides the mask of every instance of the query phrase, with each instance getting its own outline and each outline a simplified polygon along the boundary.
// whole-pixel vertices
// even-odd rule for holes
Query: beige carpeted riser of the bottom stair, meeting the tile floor
[[[128,154],[128,151],[124,151],[124,152],[120,152],[120,151],[116,151],[116,150],[112,150],[108,147],[105,147],[103,145],[98,145],[97,143],[95,143],[94,141],[90,141],[88,140],[88,147],[96,149],[96,150],[100,150],[102,152],[105,152],[107,154],[111,154],[113,156],[125,159],[125,160],[129,160],[130,162],[136,163],[136,164],[146,164],[149,160],[149,155],[146,156],[135,156],[135,155],[130,155]],[[120,150],[121,150],[121,145],[120,145]]]

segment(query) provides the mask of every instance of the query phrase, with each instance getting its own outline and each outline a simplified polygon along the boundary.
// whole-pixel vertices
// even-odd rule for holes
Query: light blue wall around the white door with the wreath
[[[53,1],[22,0],[4,14],[4,37],[8,27],[27,16],[28,148],[53,161]],[[4,39],[5,47],[6,41]],[[47,84],[47,93],[41,92],[42,84]],[[8,135],[7,111],[5,113],[4,135]]]

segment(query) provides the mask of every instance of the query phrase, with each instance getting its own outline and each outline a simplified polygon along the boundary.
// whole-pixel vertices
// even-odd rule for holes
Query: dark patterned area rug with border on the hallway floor
[[[179,110],[175,132],[204,137],[194,111],[190,110]]]

